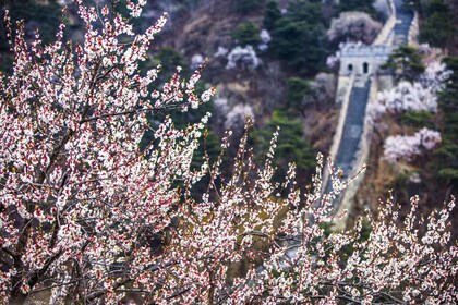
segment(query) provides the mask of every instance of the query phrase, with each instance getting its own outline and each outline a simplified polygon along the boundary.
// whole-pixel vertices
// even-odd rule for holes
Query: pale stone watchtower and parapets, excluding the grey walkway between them
[[[348,106],[350,103],[350,94],[353,86],[355,86],[354,80],[371,78],[367,107],[365,111],[371,108],[371,103],[376,101],[378,90],[389,89],[389,87],[393,86],[393,76],[379,73],[381,66],[388,60],[389,54],[393,52],[394,44],[396,42],[395,26],[397,22],[399,22],[397,20],[394,0],[387,1],[389,1],[391,15],[385,23],[374,42],[371,46],[362,44],[347,45],[340,51],[340,70],[336,103],[341,105],[341,110],[336,134],[329,151],[329,157],[332,157],[333,160],[337,159],[339,146],[342,141],[343,125],[347,118]],[[415,12],[413,21],[409,27],[409,34],[407,37],[408,44],[417,44],[418,30],[418,13]],[[352,162],[351,174],[354,174],[359,169],[361,169],[369,159],[372,127],[373,126],[367,124],[367,122],[364,122],[358,151],[354,151],[354,161]],[[328,181],[329,174],[325,171],[323,179],[324,192],[326,192]],[[362,181],[363,174],[349,185],[342,194],[342,198],[339,204],[336,206],[337,212],[351,210],[353,208],[355,204],[355,195]],[[345,217],[341,221],[336,223],[336,229],[343,228],[346,222],[347,218]]]

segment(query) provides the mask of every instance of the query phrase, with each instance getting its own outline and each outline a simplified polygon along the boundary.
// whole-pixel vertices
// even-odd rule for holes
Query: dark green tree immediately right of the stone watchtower
[[[425,66],[422,63],[422,54],[410,46],[400,46],[389,57],[384,68],[395,70],[397,81],[415,81]]]

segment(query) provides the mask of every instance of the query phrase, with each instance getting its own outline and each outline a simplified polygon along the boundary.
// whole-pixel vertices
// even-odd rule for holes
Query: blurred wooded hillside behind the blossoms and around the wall
[[[245,115],[252,115],[254,131],[251,145],[263,151],[268,145],[269,134],[279,125],[277,166],[282,171],[289,161],[296,161],[301,183],[309,183],[314,155],[329,151],[340,112],[340,106],[335,103],[336,70],[326,65],[326,59],[335,53],[341,41],[370,42],[387,17],[384,1],[338,2],[149,1],[142,22],[135,26],[142,29],[162,11],[169,13],[166,30],[157,38],[150,59],[145,63],[146,66],[162,65],[160,81],[167,80],[176,65],[182,65],[189,75],[207,60],[202,89],[209,84],[217,88],[213,103],[203,110],[213,112],[210,147],[207,147],[210,152],[217,150],[212,145],[217,146],[217,138],[227,127],[234,131],[233,141],[237,142],[242,134]],[[3,8],[10,9],[13,19],[28,20],[25,27],[29,37],[34,28],[39,27],[45,40],[51,39],[57,28],[61,4],[69,3],[65,16],[68,30],[72,39],[81,39],[76,11],[71,1],[28,0],[28,5],[16,1],[4,3]],[[117,4],[119,10],[122,10],[121,4]],[[457,36],[453,34],[450,24],[441,25],[445,20],[441,16],[453,15],[457,10],[456,3],[434,0],[414,1],[413,4],[420,12],[420,40],[444,48],[444,54],[456,54]],[[358,22],[359,27],[351,25],[352,20]],[[443,28],[444,35],[431,34],[436,26]],[[4,35],[3,27],[2,30]],[[5,62],[9,60],[5,39],[2,39],[0,61],[4,71],[8,71]],[[202,113],[190,112],[176,119],[185,124],[200,115]],[[387,120],[386,124],[400,122],[400,119],[395,122],[384,120]],[[447,129],[444,120],[441,110],[433,121]],[[396,130],[395,126],[393,129]],[[399,129],[406,131],[402,126]],[[444,194],[448,196],[456,192],[455,180],[437,180],[437,170],[432,169],[432,164],[437,163],[441,157],[435,155],[419,159],[413,164],[387,167],[383,159],[383,141],[388,134],[382,133],[382,138],[374,137],[372,142],[366,181],[358,195],[359,204],[353,215],[367,206],[376,209],[378,198],[386,197],[388,190],[395,190],[395,197],[403,204],[411,195],[420,193],[425,212],[436,208],[445,199]],[[411,182],[412,174],[415,178],[419,174],[421,182]]]

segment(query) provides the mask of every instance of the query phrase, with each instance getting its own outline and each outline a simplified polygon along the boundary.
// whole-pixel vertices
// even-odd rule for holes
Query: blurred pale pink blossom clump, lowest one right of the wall
[[[411,136],[388,136],[384,144],[384,158],[390,163],[412,161],[424,151],[434,149],[441,141],[441,133],[426,127]]]

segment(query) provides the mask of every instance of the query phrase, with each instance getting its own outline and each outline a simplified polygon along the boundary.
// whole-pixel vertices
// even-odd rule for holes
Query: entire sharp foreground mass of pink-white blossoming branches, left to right
[[[145,1],[126,3],[136,17]],[[126,293],[154,304],[456,297],[458,249],[447,231],[454,200],[418,218],[413,198],[400,225],[388,202],[377,219],[367,215],[372,230],[363,237],[362,220],[351,231],[323,229],[338,217],[332,198],[349,181],[330,166],[333,191],[321,194],[322,156],[306,193],[294,183],[293,164],[285,183],[270,182],[277,133],[262,166],[245,133],[230,178],[221,176],[222,157],[192,169],[208,115],[183,130],[170,119],[158,126],[146,119],[196,108],[214,91],[198,97],[200,71],[184,81],[180,69],[160,91],[149,90],[158,70],[138,72],[138,62],[166,16],[135,35],[108,8],[75,4],[86,26],[81,45],[64,42],[63,24],[53,44],[37,34],[27,45],[22,24],[13,35],[7,15],[14,63],[0,78],[2,303],[39,292],[50,304],[117,304]],[[154,141],[141,149],[152,129]],[[207,191],[192,197],[204,175]],[[240,260],[245,273],[229,277],[230,263]]]

